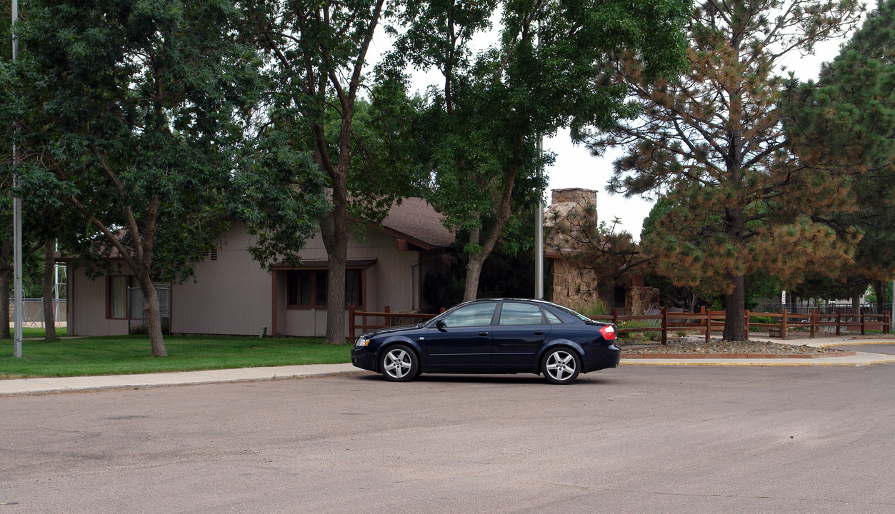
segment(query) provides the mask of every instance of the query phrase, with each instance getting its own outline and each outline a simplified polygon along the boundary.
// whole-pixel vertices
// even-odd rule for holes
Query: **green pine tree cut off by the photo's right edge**
[[[806,165],[822,173],[848,173],[853,208],[826,213],[838,231],[857,226],[863,239],[854,264],[842,274],[848,290],[895,276],[895,2],[868,13],[820,79],[793,80],[782,108],[788,136]],[[840,282],[812,288],[835,296]],[[841,296],[841,295],[840,295]]]

